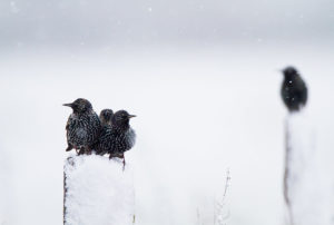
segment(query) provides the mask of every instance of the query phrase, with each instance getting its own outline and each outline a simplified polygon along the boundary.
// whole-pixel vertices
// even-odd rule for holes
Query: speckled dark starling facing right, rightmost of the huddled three
[[[124,158],[124,153],[131,149],[136,141],[136,133],[129,125],[132,117],[135,116],[126,110],[116,111],[111,118],[111,125],[105,126],[101,131],[96,153],[109,154],[109,158]]]

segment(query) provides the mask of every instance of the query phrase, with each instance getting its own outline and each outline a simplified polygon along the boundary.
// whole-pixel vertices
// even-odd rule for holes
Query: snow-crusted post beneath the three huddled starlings
[[[71,156],[65,163],[66,225],[130,225],[135,190],[129,165],[102,156]]]

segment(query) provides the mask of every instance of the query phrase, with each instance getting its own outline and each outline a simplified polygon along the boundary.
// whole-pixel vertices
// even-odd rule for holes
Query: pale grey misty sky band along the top
[[[332,0],[2,0],[0,47],[310,42],[334,38]]]

